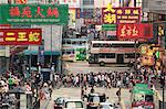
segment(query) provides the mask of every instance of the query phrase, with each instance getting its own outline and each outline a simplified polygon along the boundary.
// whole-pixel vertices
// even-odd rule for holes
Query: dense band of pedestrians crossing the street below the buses
[[[151,69],[142,68],[141,72],[104,72],[104,73],[87,73],[87,74],[69,74],[63,77],[56,75],[55,86],[58,87],[105,87],[105,88],[117,88],[124,87],[129,88],[135,83],[147,83],[152,84],[153,79],[156,79],[155,74]]]

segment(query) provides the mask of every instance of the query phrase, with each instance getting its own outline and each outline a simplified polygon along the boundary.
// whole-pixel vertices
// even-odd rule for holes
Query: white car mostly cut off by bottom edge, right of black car
[[[115,103],[101,102],[97,109],[115,109]]]

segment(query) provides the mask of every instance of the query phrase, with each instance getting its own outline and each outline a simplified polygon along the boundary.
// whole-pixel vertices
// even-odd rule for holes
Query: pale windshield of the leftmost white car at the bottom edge
[[[83,108],[83,103],[81,101],[68,101],[65,102],[65,108],[69,109]]]

